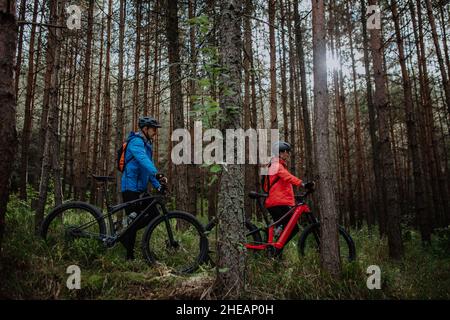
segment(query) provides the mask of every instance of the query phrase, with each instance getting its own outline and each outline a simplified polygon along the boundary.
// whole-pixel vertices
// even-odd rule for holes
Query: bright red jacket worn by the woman
[[[269,179],[271,188],[264,203],[265,207],[294,206],[295,198],[292,185],[299,186],[302,184],[302,180],[289,173],[286,161],[278,157],[271,160]]]

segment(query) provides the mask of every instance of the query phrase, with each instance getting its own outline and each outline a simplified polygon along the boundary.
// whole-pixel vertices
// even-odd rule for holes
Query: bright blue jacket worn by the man
[[[122,174],[122,192],[144,192],[149,182],[158,189],[158,170],[153,164],[153,146],[141,132],[130,132],[125,152],[125,170]]]

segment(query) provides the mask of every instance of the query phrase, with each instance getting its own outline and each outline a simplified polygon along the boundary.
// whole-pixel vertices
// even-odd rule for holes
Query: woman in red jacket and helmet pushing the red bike
[[[302,180],[292,175],[287,169],[287,160],[290,157],[291,145],[284,141],[279,141],[274,144],[273,151],[278,148],[279,155],[271,159],[269,164],[269,196],[267,197],[264,205],[272,216],[273,221],[278,221],[283,215],[285,215],[291,207],[295,205],[294,189],[293,186],[303,186],[312,188],[313,182],[304,184]],[[290,215],[286,216],[281,222],[282,226],[285,226]],[[289,239],[291,240],[299,229],[295,226]]]

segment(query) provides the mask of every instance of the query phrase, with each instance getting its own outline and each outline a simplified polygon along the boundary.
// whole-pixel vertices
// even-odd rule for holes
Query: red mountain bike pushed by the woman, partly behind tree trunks
[[[309,252],[319,252],[320,250],[320,221],[313,215],[309,206],[305,202],[305,198],[311,194],[313,190],[308,190],[303,194],[296,195],[296,204],[283,215],[279,220],[272,222],[269,218],[269,212],[264,207],[264,199],[268,196],[266,193],[250,192],[248,196],[257,201],[259,210],[265,222],[265,226],[258,228],[251,221],[245,222],[247,229],[245,247],[249,250],[267,250],[270,256],[277,255],[286,245],[296,224],[302,221],[306,222],[306,227],[300,234],[297,249],[300,257],[305,256]],[[287,216],[291,216],[286,226],[282,227],[281,233],[276,234],[275,230],[281,225],[281,221]],[[214,263],[215,241],[213,238],[213,229],[217,225],[217,217],[214,217],[205,227],[209,235],[209,260]],[[261,236],[263,235],[263,236]],[[341,258],[352,261],[356,258],[355,243],[351,236],[339,226],[339,247]]]

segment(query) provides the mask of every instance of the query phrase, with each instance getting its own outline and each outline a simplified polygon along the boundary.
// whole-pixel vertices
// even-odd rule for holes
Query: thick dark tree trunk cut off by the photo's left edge
[[[17,22],[15,1],[0,1],[0,259],[5,215],[9,199],[10,176],[17,149],[15,53]]]

